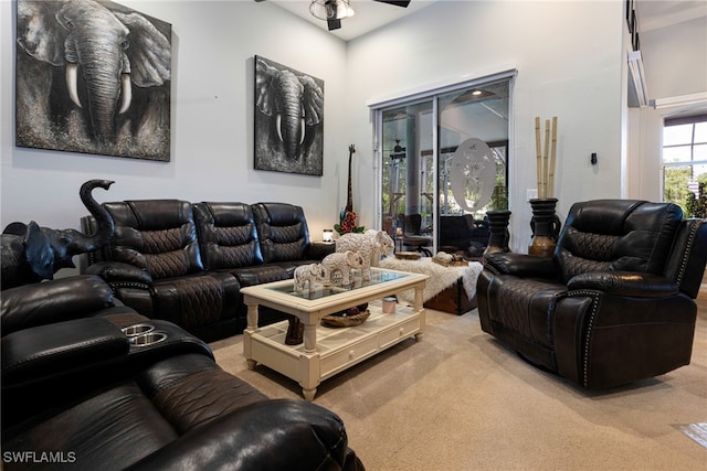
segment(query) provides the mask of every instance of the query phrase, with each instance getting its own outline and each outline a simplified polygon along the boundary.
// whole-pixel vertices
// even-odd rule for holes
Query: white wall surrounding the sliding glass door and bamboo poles
[[[362,142],[359,186],[374,181],[367,100],[515,65],[510,149],[511,249],[526,251],[536,185],[535,117],[558,117],[556,195],[621,196],[623,2],[442,2],[349,43],[350,136]],[[625,88],[625,87],[624,87]],[[597,152],[599,164],[591,165]],[[361,183],[366,182],[366,183]],[[355,207],[372,207],[360,190]],[[362,212],[374,225],[374,214]]]

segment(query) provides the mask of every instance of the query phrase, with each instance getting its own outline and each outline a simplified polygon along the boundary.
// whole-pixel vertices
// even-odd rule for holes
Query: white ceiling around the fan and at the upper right
[[[310,0],[268,1],[316,24],[323,30],[327,30],[326,21],[316,19],[309,13]],[[345,41],[350,41],[437,1],[441,0],[412,0],[408,8],[401,8],[373,0],[350,0],[356,14],[352,18],[342,20],[341,29],[331,31],[331,34]],[[705,0],[634,0],[634,2],[639,17],[640,32],[707,17],[707,1]]]

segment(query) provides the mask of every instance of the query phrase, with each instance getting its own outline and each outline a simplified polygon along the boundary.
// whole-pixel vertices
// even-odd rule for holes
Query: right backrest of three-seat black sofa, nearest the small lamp
[[[309,229],[300,206],[287,203],[255,203],[252,208],[265,263],[306,258]]]

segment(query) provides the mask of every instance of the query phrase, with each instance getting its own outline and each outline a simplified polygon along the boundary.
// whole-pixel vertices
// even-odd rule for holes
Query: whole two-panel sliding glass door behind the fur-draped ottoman
[[[513,75],[376,109],[381,227],[398,250],[483,254],[486,212],[508,206]]]

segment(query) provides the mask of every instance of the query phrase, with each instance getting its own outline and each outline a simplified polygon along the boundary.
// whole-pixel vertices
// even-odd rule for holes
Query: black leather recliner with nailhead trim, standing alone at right
[[[689,364],[707,221],[629,200],[572,205],[552,258],[486,256],[482,329],[585,388]]]

